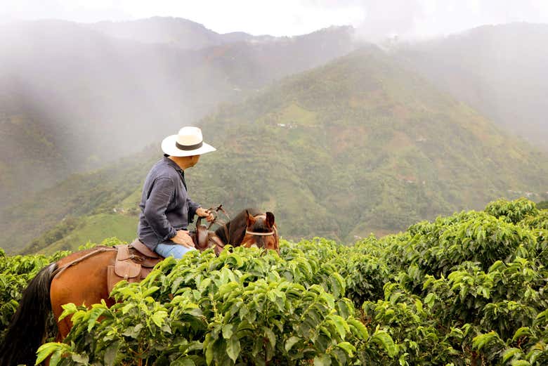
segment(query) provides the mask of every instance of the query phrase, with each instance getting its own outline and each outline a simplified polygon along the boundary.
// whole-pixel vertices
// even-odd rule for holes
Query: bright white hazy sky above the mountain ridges
[[[0,0],[0,19],[155,15],[187,18],[220,33],[281,36],[349,24],[368,37],[428,37],[483,24],[548,23],[548,0]]]

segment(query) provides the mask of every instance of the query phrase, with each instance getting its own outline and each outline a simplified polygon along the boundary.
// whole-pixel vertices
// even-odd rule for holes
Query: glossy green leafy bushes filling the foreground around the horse
[[[52,365],[545,365],[547,233],[547,210],[498,200],[350,247],[316,238],[283,242],[280,256],[235,249],[167,260],[141,284],[119,285],[112,308],[65,306],[72,332],[39,357],[52,355]],[[2,278],[25,273],[24,282],[44,263],[3,256]],[[2,299],[2,319],[21,286],[4,287],[13,298]]]

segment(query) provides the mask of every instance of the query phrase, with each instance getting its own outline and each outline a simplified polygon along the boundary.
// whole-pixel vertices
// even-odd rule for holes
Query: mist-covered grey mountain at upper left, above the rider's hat
[[[0,156],[0,204],[138,152],[218,103],[352,48],[345,27],[188,51],[72,22],[2,24],[0,146],[9,153]]]

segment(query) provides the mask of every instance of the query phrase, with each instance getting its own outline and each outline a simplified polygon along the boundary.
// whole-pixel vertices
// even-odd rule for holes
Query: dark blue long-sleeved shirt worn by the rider
[[[152,166],[143,185],[137,236],[151,250],[186,230],[200,207],[188,197],[184,171],[168,157]]]

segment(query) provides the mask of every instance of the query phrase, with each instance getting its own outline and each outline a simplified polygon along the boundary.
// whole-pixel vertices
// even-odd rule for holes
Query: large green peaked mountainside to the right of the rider
[[[289,235],[402,230],[548,183],[545,155],[375,49],[286,79],[204,124],[216,126],[223,152],[197,174],[244,185],[251,203],[287,220]]]

